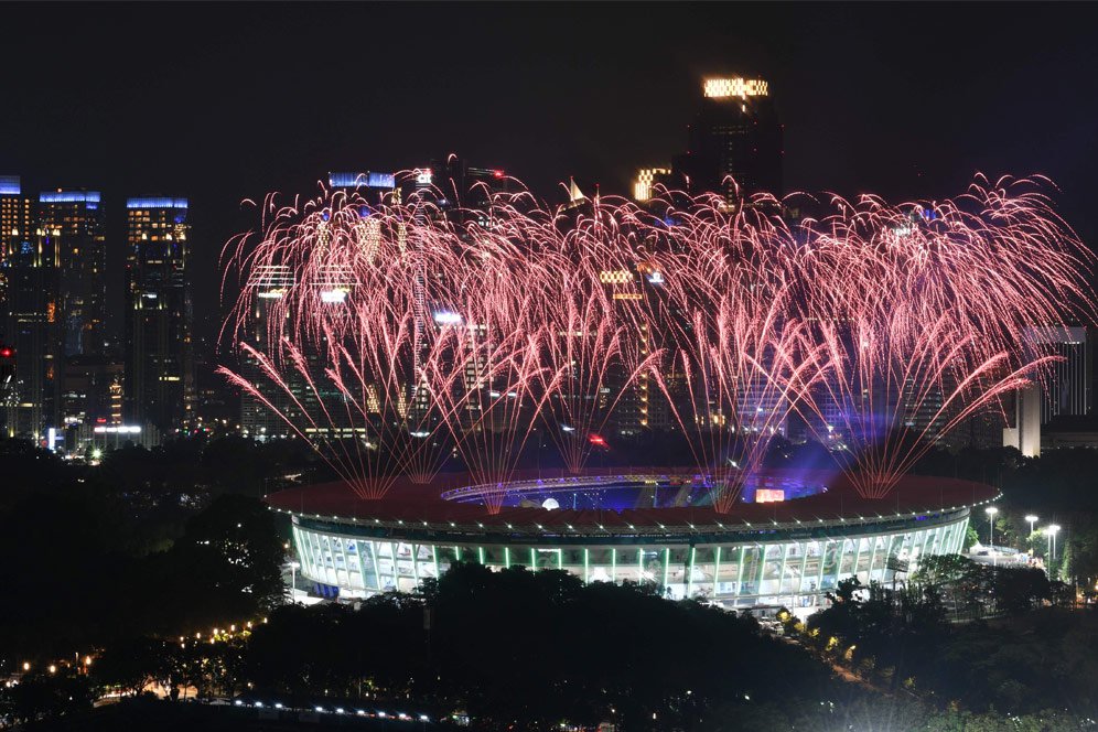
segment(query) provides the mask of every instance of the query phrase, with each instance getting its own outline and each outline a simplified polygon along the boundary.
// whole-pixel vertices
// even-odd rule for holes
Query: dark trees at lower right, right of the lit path
[[[850,579],[831,601],[804,623],[783,613],[786,633],[885,693],[1005,717],[1098,712],[1098,614],[1040,570],[937,557],[898,592]]]

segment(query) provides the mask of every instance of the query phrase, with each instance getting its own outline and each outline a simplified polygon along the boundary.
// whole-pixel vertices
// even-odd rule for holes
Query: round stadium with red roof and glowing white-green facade
[[[726,514],[712,493],[682,469],[618,469],[518,472],[502,485],[441,474],[398,482],[379,500],[329,483],[267,502],[290,515],[301,572],[326,598],[412,591],[461,560],[654,583],[728,607],[805,609],[842,579],[903,581],[921,558],[959,551],[972,509],[998,497],[980,483],[908,475],[869,499],[841,474],[792,470],[749,478]]]

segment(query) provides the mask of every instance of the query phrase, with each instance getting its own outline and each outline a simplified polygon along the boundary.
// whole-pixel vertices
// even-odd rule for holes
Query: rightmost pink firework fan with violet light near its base
[[[798,409],[866,497],[936,441],[1041,381],[1056,360],[1035,324],[1094,322],[1091,257],[1030,181],[957,201],[887,206],[836,197],[801,225],[790,316],[824,352]]]

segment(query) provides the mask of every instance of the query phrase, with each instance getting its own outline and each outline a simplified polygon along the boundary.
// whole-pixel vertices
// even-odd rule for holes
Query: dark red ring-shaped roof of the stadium
[[[586,473],[593,475],[685,475],[683,469],[616,467]],[[430,485],[417,485],[406,478],[398,480],[388,494],[379,500],[359,498],[346,483],[323,483],[301,488],[289,488],[271,494],[267,503],[280,510],[340,520],[407,521],[409,524],[464,525],[484,529],[528,527],[539,530],[574,530],[604,528],[626,530],[634,527],[742,525],[765,526],[772,523],[808,523],[858,520],[892,517],[904,514],[936,513],[961,506],[987,503],[999,495],[990,485],[950,477],[907,475],[881,499],[862,498],[841,475],[828,471],[767,471],[771,477],[803,478],[824,484],[827,491],[816,495],[775,503],[736,503],[728,514],[718,514],[709,507],[635,508],[622,512],[546,510],[540,507],[507,507],[489,515],[475,503],[444,500],[444,491],[469,485],[472,481],[464,473],[439,475]],[[559,474],[537,471],[518,471],[514,481],[557,478]]]

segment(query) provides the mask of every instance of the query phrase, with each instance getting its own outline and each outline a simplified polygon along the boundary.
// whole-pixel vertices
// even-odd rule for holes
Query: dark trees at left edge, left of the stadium
[[[127,505],[44,487],[0,512],[0,674],[110,647],[133,633],[177,635],[282,601],[284,545],[255,498],[225,495],[168,548],[137,552]]]

